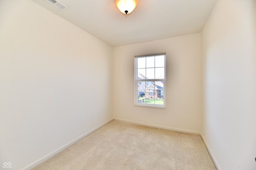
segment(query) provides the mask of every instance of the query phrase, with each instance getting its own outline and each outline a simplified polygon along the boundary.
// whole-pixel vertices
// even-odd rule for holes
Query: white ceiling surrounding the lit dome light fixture
[[[112,47],[200,33],[217,0],[138,0],[122,14],[115,0],[32,0]]]

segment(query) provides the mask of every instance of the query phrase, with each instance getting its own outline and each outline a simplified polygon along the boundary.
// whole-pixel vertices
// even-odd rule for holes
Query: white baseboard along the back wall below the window
[[[114,119],[116,119],[116,118],[114,118]],[[148,127],[156,127],[156,128],[167,129],[167,130],[171,130],[171,131],[177,131],[177,132],[184,132],[184,133],[191,133],[191,134],[201,135],[201,133],[197,132],[197,131],[189,131],[189,130],[185,130],[185,129],[178,129],[178,128],[173,128],[173,127],[166,127],[166,126],[153,125],[153,124],[148,124],[148,123],[141,123],[141,122],[137,122],[137,121],[128,121],[128,120],[124,120],[124,119],[116,119],[116,120],[121,120],[121,121],[125,121],[125,122],[128,122],[128,123],[136,124],[136,125],[143,125],[143,126],[148,126]]]

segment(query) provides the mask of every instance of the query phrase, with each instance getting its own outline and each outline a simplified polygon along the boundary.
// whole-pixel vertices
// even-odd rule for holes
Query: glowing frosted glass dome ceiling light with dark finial
[[[137,6],[138,0],[116,0],[117,8],[124,14],[131,13]]]

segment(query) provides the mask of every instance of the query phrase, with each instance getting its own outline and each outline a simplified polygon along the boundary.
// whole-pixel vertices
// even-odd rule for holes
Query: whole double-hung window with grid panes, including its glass
[[[135,56],[135,105],[165,107],[166,53]]]

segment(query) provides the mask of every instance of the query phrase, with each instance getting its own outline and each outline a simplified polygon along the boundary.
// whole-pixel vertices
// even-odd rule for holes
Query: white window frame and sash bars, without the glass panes
[[[137,59],[138,58],[142,58],[142,57],[154,57],[154,56],[159,56],[159,55],[164,55],[164,78],[163,79],[138,79],[138,63],[137,63]],[[135,58],[134,58],[134,63],[135,63],[135,66],[134,66],[134,105],[135,106],[142,106],[142,107],[154,107],[154,108],[162,108],[162,109],[165,109],[165,104],[166,104],[166,85],[165,85],[165,82],[166,82],[166,53],[154,53],[154,54],[147,54],[147,55],[136,55]],[[156,67],[154,67],[156,68]],[[164,104],[163,105],[160,105],[160,104],[146,104],[146,103],[139,103],[138,102],[138,82],[148,82],[148,81],[160,81],[160,82],[163,82],[164,84]],[[146,94],[145,94],[146,95]]]

